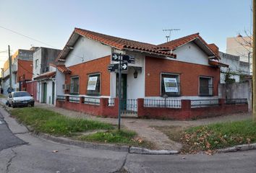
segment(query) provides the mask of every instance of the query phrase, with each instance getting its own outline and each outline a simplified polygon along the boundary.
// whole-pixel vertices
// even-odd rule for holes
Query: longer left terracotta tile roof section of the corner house
[[[78,35],[82,35],[84,37],[88,37],[88,38],[98,41],[100,43],[110,45],[111,47],[114,47],[119,50],[132,49],[132,50],[139,50],[139,51],[142,51],[145,53],[154,53],[154,54],[161,55],[161,56],[171,56],[173,58],[176,57],[176,55],[174,55],[173,53],[170,53],[169,51],[158,50],[156,45],[152,45],[149,43],[137,42],[134,40],[127,40],[127,39],[124,39],[121,37],[114,37],[111,35],[104,35],[104,34],[101,34],[98,32],[93,32],[90,30],[83,30],[80,28],[74,28],[74,32],[72,32],[72,35],[69,37],[69,41],[72,39],[72,36],[75,33],[77,33]],[[68,43],[69,43],[69,41],[68,41]],[[56,61],[65,59],[65,57],[61,57],[63,52],[64,52],[64,50],[61,51],[61,53],[59,54]]]

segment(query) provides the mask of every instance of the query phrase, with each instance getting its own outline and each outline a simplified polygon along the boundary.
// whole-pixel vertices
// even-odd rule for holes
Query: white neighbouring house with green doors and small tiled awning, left
[[[37,48],[33,53],[33,81],[27,82],[27,92],[33,94],[37,102],[55,104],[54,64],[61,50],[54,48]]]

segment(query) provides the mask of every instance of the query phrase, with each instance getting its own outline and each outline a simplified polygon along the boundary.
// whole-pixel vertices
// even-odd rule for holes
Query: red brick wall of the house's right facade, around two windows
[[[182,96],[197,96],[199,76],[213,77],[213,95],[218,96],[220,69],[194,63],[170,61],[161,58],[146,57],[145,59],[145,96],[161,95],[161,72],[180,74]]]

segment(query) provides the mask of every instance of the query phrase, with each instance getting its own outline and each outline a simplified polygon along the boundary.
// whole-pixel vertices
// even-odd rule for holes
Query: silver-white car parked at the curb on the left
[[[35,100],[28,92],[11,92],[7,99],[7,105],[9,107],[28,106],[33,107]]]

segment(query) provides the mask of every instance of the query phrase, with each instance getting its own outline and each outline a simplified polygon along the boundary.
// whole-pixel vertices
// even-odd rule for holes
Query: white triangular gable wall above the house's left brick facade
[[[74,66],[109,55],[111,55],[110,46],[103,45],[86,37],[80,37],[77,43],[75,43],[74,49],[69,52],[65,65],[67,67]]]

